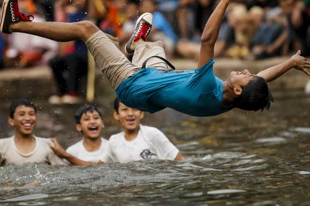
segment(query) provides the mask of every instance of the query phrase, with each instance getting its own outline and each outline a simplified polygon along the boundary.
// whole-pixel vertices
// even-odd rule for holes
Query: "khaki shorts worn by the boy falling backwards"
[[[147,58],[152,56],[166,58],[162,47],[146,43],[136,47],[131,63],[119,50],[118,39],[102,31],[93,34],[85,44],[114,90],[123,80],[141,70],[142,64]],[[168,69],[167,64],[158,58],[149,59],[146,67]]]

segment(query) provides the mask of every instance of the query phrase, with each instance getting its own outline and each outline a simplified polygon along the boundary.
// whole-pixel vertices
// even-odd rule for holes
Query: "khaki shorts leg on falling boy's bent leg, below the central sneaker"
[[[141,67],[143,62],[153,56],[160,56],[166,59],[164,52],[164,44],[162,41],[157,42],[143,42],[135,47],[132,63]],[[156,67],[157,69],[168,70],[167,64],[158,58],[151,58],[147,60],[146,67]]]

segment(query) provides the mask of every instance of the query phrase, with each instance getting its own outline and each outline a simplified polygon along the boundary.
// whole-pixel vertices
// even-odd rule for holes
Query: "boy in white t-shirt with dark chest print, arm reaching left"
[[[114,118],[120,122],[123,132],[114,134],[108,142],[108,153],[96,164],[104,162],[132,162],[144,159],[182,160],[179,149],[175,147],[160,130],[140,125],[144,112],[125,106],[117,99],[114,101]],[[50,146],[57,155],[75,165],[89,166],[85,162],[68,154],[52,139],[55,147]]]

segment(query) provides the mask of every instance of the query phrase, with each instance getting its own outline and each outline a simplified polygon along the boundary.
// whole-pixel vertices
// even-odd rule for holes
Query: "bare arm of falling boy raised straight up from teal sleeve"
[[[214,57],[214,44],[217,40],[221,27],[221,21],[230,0],[221,0],[217,5],[201,35],[200,55],[198,60],[198,68],[208,63]]]

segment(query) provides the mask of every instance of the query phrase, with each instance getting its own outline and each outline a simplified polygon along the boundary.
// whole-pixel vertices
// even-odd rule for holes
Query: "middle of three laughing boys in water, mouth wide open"
[[[84,105],[75,113],[76,129],[83,139],[68,147],[66,152],[86,162],[98,162],[107,152],[108,140],[100,137],[104,127],[102,115],[93,105]]]

